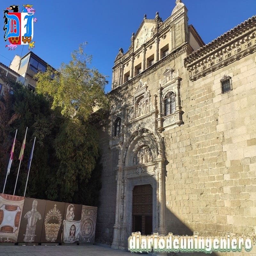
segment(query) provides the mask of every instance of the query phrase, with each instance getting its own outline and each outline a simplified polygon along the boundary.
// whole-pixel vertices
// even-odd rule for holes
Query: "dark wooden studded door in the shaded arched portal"
[[[152,234],[153,189],[150,184],[135,186],[132,191],[132,232]]]

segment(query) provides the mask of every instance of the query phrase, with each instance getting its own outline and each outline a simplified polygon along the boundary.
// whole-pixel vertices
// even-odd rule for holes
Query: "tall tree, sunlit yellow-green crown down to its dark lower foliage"
[[[84,47],[80,45],[72,60],[59,70],[47,69],[36,75],[36,92],[65,118],[53,143],[58,167],[46,192],[52,200],[71,202],[77,193],[83,193],[81,184],[88,184],[99,157],[97,124],[91,122],[91,115],[108,108],[104,93],[108,81],[97,69],[88,67],[92,56]]]

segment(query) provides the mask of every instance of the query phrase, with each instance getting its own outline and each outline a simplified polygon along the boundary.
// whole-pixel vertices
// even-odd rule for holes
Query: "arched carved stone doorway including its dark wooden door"
[[[156,132],[139,127],[122,145],[116,168],[116,220],[112,248],[126,249],[128,238],[136,229],[142,234],[153,231],[165,235],[163,163],[162,140]],[[143,189],[146,192],[140,191]],[[140,192],[144,199],[143,196],[137,198]],[[133,204],[134,198],[144,207],[142,212]],[[152,210],[145,209],[148,207],[145,199]]]

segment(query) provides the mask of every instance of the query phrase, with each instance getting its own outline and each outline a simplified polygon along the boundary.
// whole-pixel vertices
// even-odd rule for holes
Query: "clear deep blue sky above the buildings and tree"
[[[188,24],[196,28],[206,44],[256,14],[255,0],[183,0],[183,3],[188,9]],[[71,58],[70,53],[80,43],[88,42],[86,53],[92,54],[92,66],[109,76],[106,87],[108,92],[119,48],[122,47],[124,52],[128,50],[132,32],[136,33],[144,14],[147,14],[148,19],[153,19],[158,11],[162,20],[165,20],[171,15],[175,0],[8,0],[1,1],[0,6],[3,10],[13,4],[20,7],[23,4],[33,4],[37,18],[33,38],[36,47],[33,52],[54,68],[60,67],[61,62],[67,63]],[[9,66],[15,54],[21,55],[22,46],[8,51],[2,29],[0,62]],[[24,46],[22,55],[27,52],[28,47]]]

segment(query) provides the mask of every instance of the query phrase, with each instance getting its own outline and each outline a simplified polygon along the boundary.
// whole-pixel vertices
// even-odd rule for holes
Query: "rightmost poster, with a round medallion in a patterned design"
[[[96,218],[97,207],[83,205],[79,240],[80,243],[94,243]]]

